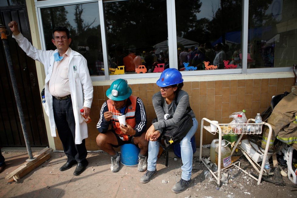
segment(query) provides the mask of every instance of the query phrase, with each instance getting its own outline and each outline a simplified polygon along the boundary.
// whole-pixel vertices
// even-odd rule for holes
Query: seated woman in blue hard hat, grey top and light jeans
[[[181,157],[183,166],[182,176],[178,183],[172,187],[174,193],[184,191],[191,183],[193,149],[191,146],[191,138],[198,128],[198,122],[194,112],[187,111],[189,107],[189,95],[186,91],[181,90],[183,87],[182,74],[174,68],[169,68],[161,73],[160,79],[157,80],[160,92],[152,97],[152,103],[158,118],[158,122],[146,132],[146,140],[149,141],[148,168],[146,173],[141,177],[141,183],[148,183],[157,173],[156,162],[159,153],[158,138],[161,136],[162,129],[175,125],[188,113],[193,120],[193,126],[187,135],[179,142],[181,148]],[[162,102],[164,100],[164,102]],[[171,119],[168,119],[171,118]]]

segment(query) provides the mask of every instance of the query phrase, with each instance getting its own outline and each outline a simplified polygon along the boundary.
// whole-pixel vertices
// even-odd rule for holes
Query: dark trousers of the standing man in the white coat
[[[75,144],[75,119],[71,98],[57,100],[53,97],[53,112],[56,127],[68,162],[81,162],[87,157],[85,140]]]

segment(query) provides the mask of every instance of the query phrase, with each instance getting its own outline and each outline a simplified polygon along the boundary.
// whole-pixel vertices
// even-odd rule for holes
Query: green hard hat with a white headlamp
[[[113,101],[123,101],[130,97],[132,89],[124,79],[114,80],[106,91],[106,96]]]

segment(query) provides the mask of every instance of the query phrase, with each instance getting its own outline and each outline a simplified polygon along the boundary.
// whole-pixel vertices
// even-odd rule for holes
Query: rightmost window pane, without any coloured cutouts
[[[248,68],[292,67],[297,60],[297,2],[250,0]]]

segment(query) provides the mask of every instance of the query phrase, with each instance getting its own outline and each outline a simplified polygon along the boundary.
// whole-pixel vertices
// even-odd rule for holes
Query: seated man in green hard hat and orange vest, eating
[[[132,96],[132,90],[124,79],[115,80],[106,91],[109,98],[101,107],[96,138],[99,148],[111,155],[111,172],[118,172],[121,156],[113,147],[135,144],[139,147],[138,171],[147,169],[148,141],[145,140],[146,114],[140,98]],[[120,124],[118,116],[125,115],[126,125]],[[111,129],[109,128],[111,125]]]

